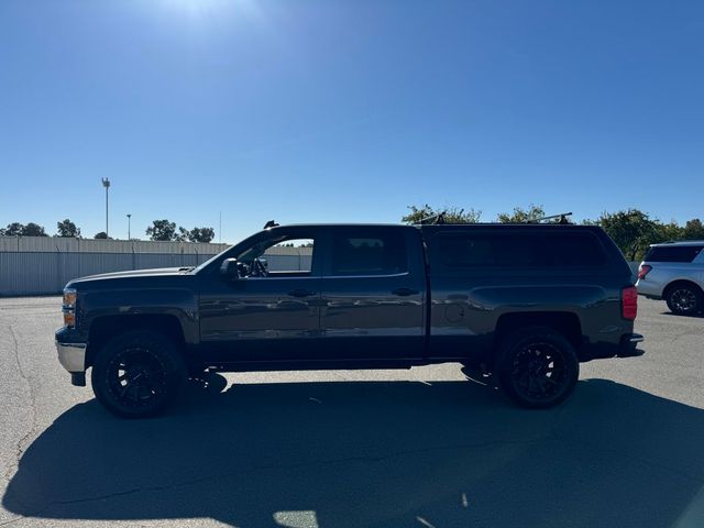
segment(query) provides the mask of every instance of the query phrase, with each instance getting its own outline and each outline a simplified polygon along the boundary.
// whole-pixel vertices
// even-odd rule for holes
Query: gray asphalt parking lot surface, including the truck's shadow
[[[136,421],[69,384],[59,304],[0,299],[0,526],[704,526],[704,318],[664,302],[557,409],[448,364],[228,374]]]

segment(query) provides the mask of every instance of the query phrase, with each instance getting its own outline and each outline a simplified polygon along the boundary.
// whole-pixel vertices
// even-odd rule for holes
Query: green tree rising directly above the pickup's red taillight
[[[658,231],[658,222],[639,209],[604,212],[596,223],[606,231],[630,261],[640,260],[648,244],[663,234],[662,231]]]

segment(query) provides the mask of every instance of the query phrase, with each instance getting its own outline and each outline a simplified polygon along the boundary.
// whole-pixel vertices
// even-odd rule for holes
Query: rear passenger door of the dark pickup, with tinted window
[[[330,359],[420,359],[426,278],[415,228],[333,227],[326,234],[321,346]]]

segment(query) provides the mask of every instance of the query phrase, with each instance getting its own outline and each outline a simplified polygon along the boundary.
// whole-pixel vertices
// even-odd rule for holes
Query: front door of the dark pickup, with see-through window
[[[316,358],[322,280],[316,239],[315,230],[278,229],[237,256],[239,278],[204,280],[200,340],[210,361]]]

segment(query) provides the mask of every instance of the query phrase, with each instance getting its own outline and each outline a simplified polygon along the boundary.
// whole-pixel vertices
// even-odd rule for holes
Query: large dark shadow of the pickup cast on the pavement
[[[617,383],[580,382],[547,411],[469,382],[188,393],[152,420],[67,410],[3,506],[242,527],[703,526],[704,410]]]

